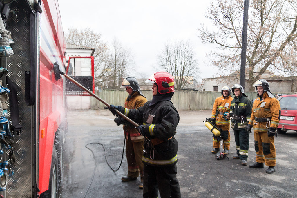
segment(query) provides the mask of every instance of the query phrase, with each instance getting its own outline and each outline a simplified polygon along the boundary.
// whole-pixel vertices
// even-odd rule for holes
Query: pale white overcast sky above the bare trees
[[[146,72],[147,77],[154,72],[157,54],[165,42],[189,40],[194,46],[199,63],[200,78],[212,77],[211,69],[205,66],[206,52],[210,46],[202,44],[198,37],[200,23],[204,18],[210,0],[59,0],[64,32],[69,27],[89,27],[111,43],[116,38],[124,47],[132,50],[136,70]],[[201,79],[198,79],[201,81]]]

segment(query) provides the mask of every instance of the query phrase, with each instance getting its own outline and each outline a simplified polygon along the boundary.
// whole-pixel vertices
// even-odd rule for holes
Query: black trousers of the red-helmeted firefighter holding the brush
[[[181,197],[178,180],[176,178],[176,164],[157,167],[144,164],[143,166],[143,197],[157,198],[158,190],[162,198]]]

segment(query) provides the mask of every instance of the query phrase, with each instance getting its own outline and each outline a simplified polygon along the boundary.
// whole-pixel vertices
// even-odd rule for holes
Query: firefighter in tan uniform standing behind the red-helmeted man
[[[140,86],[138,85],[135,77],[127,77],[121,88],[126,88],[129,96],[125,99],[125,108],[127,109],[137,109],[142,107],[147,99],[143,96],[140,91]],[[114,120],[117,125],[125,124],[123,126],[124,134],[126,137],[126,157],[128,162],[128,175],[127,177],[122,177],[123,182],[136,180],[140,173],[139,188],[143,188],[143,141],[144,137],[138,132],[138,130],[130,125],[124,118],[118,117]]]

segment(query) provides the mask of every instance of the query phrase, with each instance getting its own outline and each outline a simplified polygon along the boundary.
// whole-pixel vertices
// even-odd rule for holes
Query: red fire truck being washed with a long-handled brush
[[[65,78],[53,73],[67,69],[58,0],[0,0],[0,12],[0,195],[58,197],[67,130]]]

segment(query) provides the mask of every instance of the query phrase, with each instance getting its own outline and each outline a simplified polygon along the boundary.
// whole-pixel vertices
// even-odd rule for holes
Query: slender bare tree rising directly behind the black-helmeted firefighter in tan
[[[128,75],[133,63],[133,56],[130,49],[127,49],[121,45],[115,38],[112,44],[112,51],[110,52],[110,88],[116,89],[121,85],[124,77]]]

